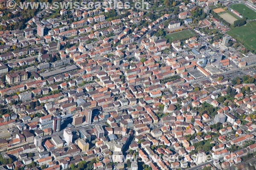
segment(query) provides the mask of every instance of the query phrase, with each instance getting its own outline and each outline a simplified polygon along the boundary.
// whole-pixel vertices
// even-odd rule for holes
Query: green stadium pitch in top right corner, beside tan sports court
[[[230,6],[230,8],[238,11],[241,15],[244,13],[243,17],[247,18],[248,20],[256,19],[256,12],[248,8],[244,4],[234,4]]]

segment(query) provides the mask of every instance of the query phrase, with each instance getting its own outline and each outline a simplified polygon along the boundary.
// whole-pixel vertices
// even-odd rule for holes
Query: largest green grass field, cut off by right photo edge
[[[256,21],[245,26],[232,28],[227,32],[231,37],[241,42],[248,50],[256,51]]]

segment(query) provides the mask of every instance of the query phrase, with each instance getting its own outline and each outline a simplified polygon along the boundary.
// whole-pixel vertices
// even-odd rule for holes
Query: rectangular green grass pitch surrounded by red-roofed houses
[[[188,38],[191,38],[194,36],[195,36],[195,34],[193,32],[191,32],[189,30],[183,30],[183,31],[167,34],[166,38],[169,40],[169,42],[173,42],[176,40],[188,39]]]

